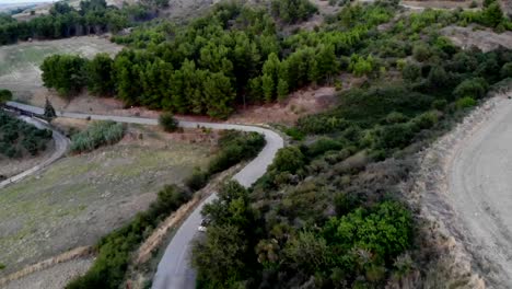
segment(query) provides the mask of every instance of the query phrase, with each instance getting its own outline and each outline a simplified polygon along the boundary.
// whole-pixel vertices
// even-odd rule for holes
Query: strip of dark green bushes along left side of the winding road
[[[219,139],[219,152],[211,159],[206,172],[196,169],[195,175],[186,183],[187,188],[166,185],[147,211],[139,212],[123,228],[104,236],[96,245],[94,265],[84,275],[71,281],[67,289],[112,288],[121,286],[126,278],[132,252],[158,224],[173,211],[187,203],[193,193],[205,186],[212,174],[254,158],[265,146],[261,135],[255,132],[223,131]],[[200,174],[200,176],[198,176]]]

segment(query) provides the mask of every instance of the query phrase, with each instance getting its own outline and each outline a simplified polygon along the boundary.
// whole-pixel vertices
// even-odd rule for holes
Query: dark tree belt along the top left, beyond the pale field
[[[118,32],[130,23],[155,16],[151,5],[133,4],[123,9],[107,7],[105,0],[84,0],[77,10],[66,1],[56,2],[48,15],[18,22],[0,14],[0,45],[19,39],[55,39],[105,32]]]

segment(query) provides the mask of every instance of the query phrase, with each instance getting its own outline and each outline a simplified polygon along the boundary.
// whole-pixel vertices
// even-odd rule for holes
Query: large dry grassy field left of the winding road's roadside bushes
[[[202,143],[186,139],[201,139],[197,135],[203,135]],[[7,267],[0,275],[94,244],[147,209],[164,184],[179,184],[195,166],[206,165],[214,152],[213,138],[130,125],[119,143],[62,159],[2,189],[0,263]]]

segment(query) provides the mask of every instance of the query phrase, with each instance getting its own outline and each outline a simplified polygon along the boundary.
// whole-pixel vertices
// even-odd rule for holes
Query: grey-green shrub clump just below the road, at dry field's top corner
[[[71,151],[80,153],[114,144],[123,139],[125,127],[115,122],[93,122],[88,129],[75,134],[71,138]]]

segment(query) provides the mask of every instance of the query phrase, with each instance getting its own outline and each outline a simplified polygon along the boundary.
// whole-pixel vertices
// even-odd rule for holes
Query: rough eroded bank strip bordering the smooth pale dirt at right
[[[411,187],[404,188],[412,207],[423,220],[424,247],[434,250],[439,259],[424,277],[426,288],[486,288],[486,267],[480,253],[473,247],[465,221],[454,209],[450,196],[451,164],[461,146],[493,114],[503,95],[489,99],[430,148],[419,153],[419,171]],[[484,258],[485,259],[485,258]]]

